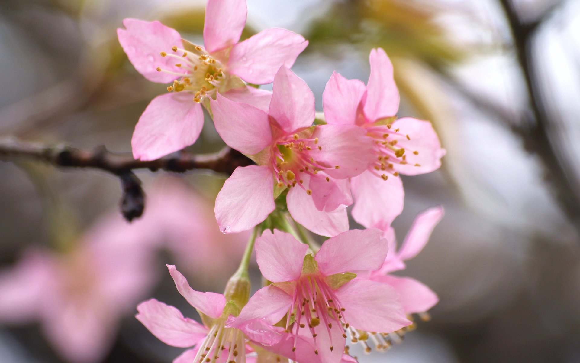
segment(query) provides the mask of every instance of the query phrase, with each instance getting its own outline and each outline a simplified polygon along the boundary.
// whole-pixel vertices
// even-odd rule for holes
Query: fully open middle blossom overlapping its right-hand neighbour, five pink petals
[[[349,228],[345,206],[352,203],[347,178],[374,162],[374,147],[356,125],[312,126],[314,95],[287,67],[274,78],[267,112],[221,95],[212,100],[216,130],[231,148],[257,166],[238,167],[225,182],[215,206],[223,232],[262,222],[285,189],[288,211],[319,235]]]

